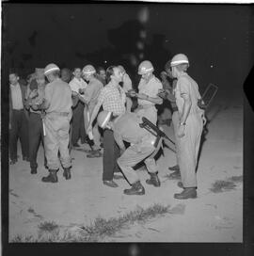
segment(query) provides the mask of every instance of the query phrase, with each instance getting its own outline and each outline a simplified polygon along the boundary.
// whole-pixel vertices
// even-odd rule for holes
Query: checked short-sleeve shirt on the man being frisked
[[[103,104],[103,110],[113,112],[119,116],[125,113],[126,95],[124,90],[118,85],[117,87],[109,82],[98,98],[98,103]]]

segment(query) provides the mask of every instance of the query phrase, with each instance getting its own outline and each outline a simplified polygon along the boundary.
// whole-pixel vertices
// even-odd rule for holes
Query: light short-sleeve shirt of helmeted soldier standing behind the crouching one
[[[144,93],[144,94],[148,95],[149,97],[156,98],[156,97],[158,97],[157,94],[159,93],[159,89],[162,89],[162,88],[163,88],[163,85],[162,85],[161,81],[158,78],[156,78],[155,76],[153,76],[148,83],[146,83],[146,81],[143,78],[141,78],[139,85],[138,85],[138,92]],[[148,105],[148,104],[154,105],[153,103],[151,103],[149,101],[140,100],[140,99],[138,99],[138,104],[139,105]]]

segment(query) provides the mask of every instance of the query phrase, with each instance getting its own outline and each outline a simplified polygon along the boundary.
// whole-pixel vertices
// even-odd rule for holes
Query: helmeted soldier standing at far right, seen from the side
[[[171,60],[172,76],[177,78],[174,89],[179,112],[179,123],[176,131],[178,160],[181,172],[183,192],[174,198],[185,200],[197,198],[196,168],[198,150],[203,129],[203,111],[198,107],[198,84],[187,74],[189,60],[183,54]]]

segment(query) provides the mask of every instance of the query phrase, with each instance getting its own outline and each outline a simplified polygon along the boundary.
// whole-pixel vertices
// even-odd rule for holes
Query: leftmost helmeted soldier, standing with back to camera
[[[68,149],[69,129],[72,116],[71,88],[59,78],[60,69],[56,64],[45,67],[44,74],[49,84],[45,88],[44,103],[41,105],[46,111],[43,120],[45,128],[44,144],[49,168],[49,175],[42,178],[44,183],[57,183],[56,172],[60,161],[64,168],[63,176],[71,179],[71,155]]]

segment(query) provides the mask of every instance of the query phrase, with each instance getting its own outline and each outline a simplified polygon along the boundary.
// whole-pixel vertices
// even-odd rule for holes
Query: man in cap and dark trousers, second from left
[[[28,133],[29,133],[29,160],[31,174],[37,173],[37,152],[40,146],[40,141],[43,143],[43,126],[42,116],[43,111],[39,109],[45,97],[45,76],[44,69],[36,69],[36,76],[30,84],[27,85],[26,91],[26,109],[29,110]],[[45,158],[45,156],[44,156]],[[46,166],[46,159],[44,159],[44,166]]]

